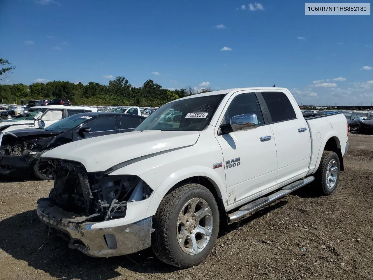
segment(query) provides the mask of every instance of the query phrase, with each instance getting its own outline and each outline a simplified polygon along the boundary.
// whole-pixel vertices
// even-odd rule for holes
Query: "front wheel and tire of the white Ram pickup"
[[[196,205],[195,208],[193,205]],[[198,219],[194,213],[202,211],[201,207],[206,210],[200,215],[205,216],[194,220]],[[193,208],[197,212],[191,211],[192,215],[188,215]],[[191,219],[188,220],[188,217]],[[216,200],[212,193],[200,184],[182,185],[163,198],[153,218],[153,226],[155,231],[152,234],[151,246],[161,261],[181,268],[197,265],[210,254],[217,239],[219,210]],[[210,237],[201,234],[201,231],[210,234]],[[194,246],[190,236],[195,237],[194,241],[197,240]]]

